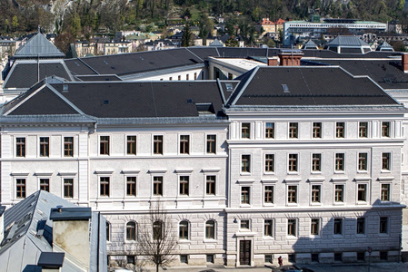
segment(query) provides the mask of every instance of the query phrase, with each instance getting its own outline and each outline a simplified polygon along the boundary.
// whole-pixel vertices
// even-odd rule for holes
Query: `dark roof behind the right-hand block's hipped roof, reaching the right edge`
[[[403,73],[401,61],[399,60],[337,59],[316,60],[309,63],[339,65],[353,75],[368,75],[383,89],[408,89],[408,73]]]

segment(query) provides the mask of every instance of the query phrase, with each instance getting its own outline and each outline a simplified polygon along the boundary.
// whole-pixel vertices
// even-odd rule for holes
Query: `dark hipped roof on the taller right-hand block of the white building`
[[[288,91],[285,91],[284,85]],[[399,105],[367,77],[339,67],[258,67],[240,83],[227,106]]]

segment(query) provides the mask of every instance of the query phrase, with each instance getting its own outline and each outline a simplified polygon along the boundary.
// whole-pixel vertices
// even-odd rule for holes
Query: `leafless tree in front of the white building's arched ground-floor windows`
[[[151,203],[149,214],[139,228],[138,251],[147,261],[154,263],[156,272],[159,267],[168,267],[174,261],[174,249],[177,239],[171,219],[167,216],[163,204]]]

